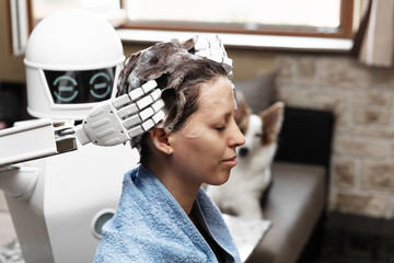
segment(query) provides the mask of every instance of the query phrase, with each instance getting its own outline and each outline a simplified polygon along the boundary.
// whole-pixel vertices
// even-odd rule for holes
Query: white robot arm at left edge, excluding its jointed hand
[[[38,180],[38,168],[14,163],[77,149],[74,137],[56,135],[65,127],[71,124],[44,118],[0,130],[0,188],[8,196],[27,198]]]

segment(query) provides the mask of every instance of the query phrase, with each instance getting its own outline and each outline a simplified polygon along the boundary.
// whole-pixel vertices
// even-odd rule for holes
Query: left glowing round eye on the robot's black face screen
[[[53,83],[54,96],[59,102],[71,102],[78,96],[77,85],[78,82],[76,79],[69,76],[60,76],[56,78]]]

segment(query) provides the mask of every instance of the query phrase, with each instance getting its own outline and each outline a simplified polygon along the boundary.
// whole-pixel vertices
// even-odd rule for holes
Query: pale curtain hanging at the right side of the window
[[[394,1],[368,0],[352,54],[369,66],[394,65]]]

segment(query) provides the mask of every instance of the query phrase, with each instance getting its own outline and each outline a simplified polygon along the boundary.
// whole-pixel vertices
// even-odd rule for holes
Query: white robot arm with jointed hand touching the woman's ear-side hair
[[[160,95],[161,90],[151,80],[128,94],[97,104],[78,126],[43,118],[0,130],[0,167],[76,150],[76,135],[82,145],[126,142],[164,118]]]

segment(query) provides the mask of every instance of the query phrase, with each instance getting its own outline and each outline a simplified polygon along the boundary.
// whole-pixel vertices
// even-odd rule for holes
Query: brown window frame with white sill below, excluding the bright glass
[[[13,0],[11,0],[13,1]],[[33,2],[25,1],[28,8],[28,28],[30,33],[35,25]],[[118,0],[120,9],[125,9],[126,0]],[[324,53],[348,53],[352,45],[354,30],[356,26],[355,19],[358,19],[359,4],[355,0],[341,0],[341,26],[339,31],[332,33],[320,33],[302,31],[301,28],[278,28],[265,27],[259,31],[248,31],[245,28],[223,28],[221,26],[201,27],[200,25],[190,24],[170,24],[163,25],[158,23],[124,23],[116,25],[116,30],[123,43],[152,44],[165,41],[170,37],[187,35],[190,33],[217,33],[223,37],[227,46],[242,49],[267,49],[267,50],[301,50],[301,52],[324,52]],[[356,24],[357,25],[357,24]],[[240,37],[242,36],[242,37]],[[225,38],[225,39],[224,39]]]

